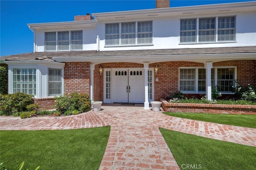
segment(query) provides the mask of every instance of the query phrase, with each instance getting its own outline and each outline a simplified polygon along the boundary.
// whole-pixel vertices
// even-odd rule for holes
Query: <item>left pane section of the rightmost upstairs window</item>
[[[180,20],[180,42],[196,42],[196,19]]]

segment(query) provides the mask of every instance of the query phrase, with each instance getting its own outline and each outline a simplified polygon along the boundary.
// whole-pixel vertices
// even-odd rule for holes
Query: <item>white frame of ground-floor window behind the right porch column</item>
[[[198,69],[204,68],[204,67],[179,67],[179,75],[178,75],[178,90],[184,94],[205,94],[206,92],[203,91],[198,91]],[[234,80],[237,79],[237,68],[236,66],[214,66],[212,69],[214,69],[214,86],[217,86],[218,82],[218,68],[234,68]],[[195,79],[195,91],[181,91],[180,90],[180,69],[196,69],[196,79]],[[236,84],[234,84],[236,86]],[[233,92],[221,92],[222,94],[234,94]]]

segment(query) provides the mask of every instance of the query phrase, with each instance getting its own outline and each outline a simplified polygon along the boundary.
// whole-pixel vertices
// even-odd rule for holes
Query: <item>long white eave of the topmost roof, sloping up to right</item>
[[[96,17],[109,17],[115,15],[129,15],[145,14],[145,13],[164,13],[164,12],[182,12],[187,10],[209,10],[213,8],[234,8],[234,7],[249,7],[256,6],[256,1],[249,2],[234,2],[234,3],[224,3],[224,4],[210,4],[210,5],[198,5],[198,6],[182,6],[182,7],[170,7],[170,8],[154,8],[146,10],[131,10],[131,11],[118,11],[118,12],[103,12],[103,13],[93,13],[92,16],[97,20]]]

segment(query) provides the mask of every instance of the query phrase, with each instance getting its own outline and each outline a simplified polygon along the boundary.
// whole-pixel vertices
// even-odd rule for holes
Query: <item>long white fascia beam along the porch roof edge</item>
[[[186,54],[186,55],[136,55],[136,56],[93,56],[93,57],[52,57],[58,62],[110,62],[158,63],[164,61],[194,61],[199,63],[227,60],[256,60],[256,53]],[[204,58],[203,58],[204,57]],[[201,62],[200,62],[201,61]]]

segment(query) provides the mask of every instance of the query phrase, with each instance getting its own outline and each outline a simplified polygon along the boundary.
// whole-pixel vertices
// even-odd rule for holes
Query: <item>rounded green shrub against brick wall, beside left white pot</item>
[[[70,97],[63,95],[60,97],[55,97],[54,99],[54,107],[56,107],[57,111],[64,115],[83,113],[89,111],[92,106],[88,94],[78,94],[75,92],[70,94]]]

